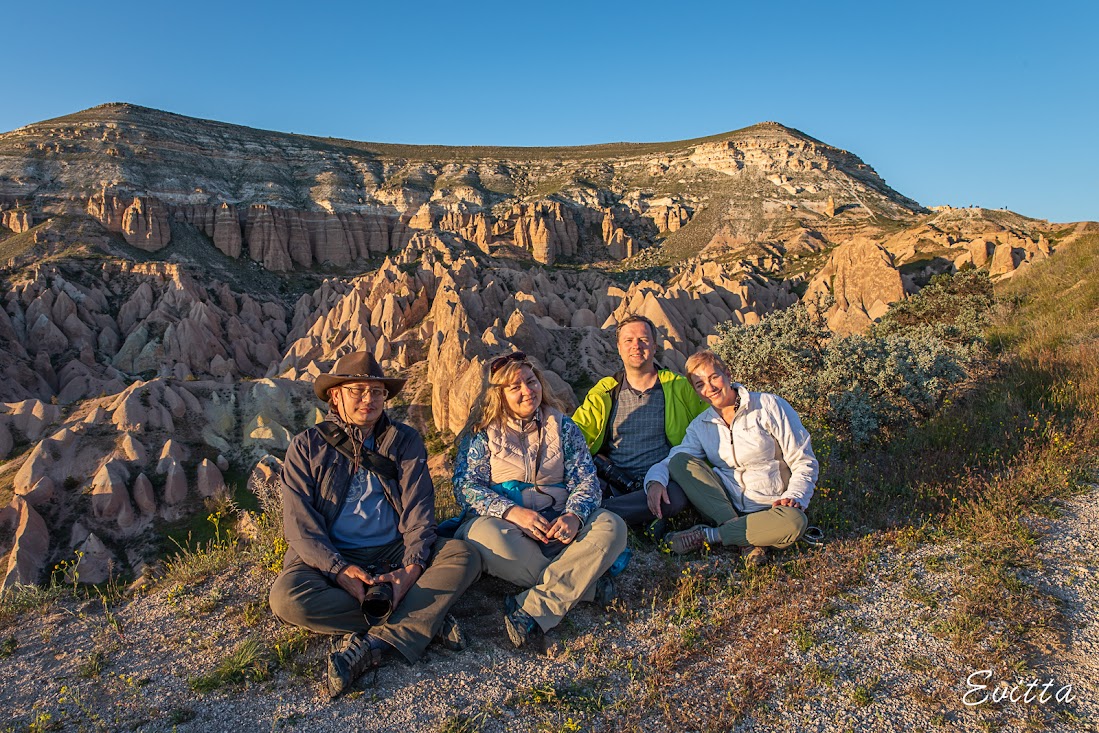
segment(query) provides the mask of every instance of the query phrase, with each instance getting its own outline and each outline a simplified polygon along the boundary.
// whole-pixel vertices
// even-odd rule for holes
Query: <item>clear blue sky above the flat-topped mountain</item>
[[[764,120],[925,206],[1099,220],[1096,2],[15,3],[0,130],[108,101],[352,140],[574,145]]]

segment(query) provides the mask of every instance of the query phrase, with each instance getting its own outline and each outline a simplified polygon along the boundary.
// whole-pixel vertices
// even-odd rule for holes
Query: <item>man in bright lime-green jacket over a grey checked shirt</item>
[[[603,508],[631,526],[652,525],[651,534],[659,535],[662,520],[687,507],[687,497],[674,482],[654,485],[648,496],[641,481],[682,442],[687,425],[707,404],[686,377],[656,368],[656,326],[647,318],[623,319],[615,340],[624,369],[600,379],[573,420],[609,485]]]

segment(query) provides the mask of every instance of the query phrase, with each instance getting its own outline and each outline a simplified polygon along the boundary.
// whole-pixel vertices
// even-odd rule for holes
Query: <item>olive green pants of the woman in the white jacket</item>
[[[793,507],[771,507],[739,514],[721,477],[702,458],[677,454],[668,470],[695,509],[718,526],[723,545],[788,547],[809,524],[806,513]]]

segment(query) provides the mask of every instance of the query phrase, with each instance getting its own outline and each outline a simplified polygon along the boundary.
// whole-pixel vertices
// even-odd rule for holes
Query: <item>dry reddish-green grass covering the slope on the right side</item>
[[[1034,520],[1094,480],[1099,455],[1099,284],[1080,277],[1096,269],[1099,237],[1065,255],[1001,289],[1002,351],[979,382],[884,451],[830,456],[818,519],[823,508],[833,536],[846,538],[762,571],[714,555],[654,588],[658,651],[639,660],[632,703],[604,711],[611,728],[729,730],[777,691],[776,680],[833,684],[828,669],[792,669],[782,651],[788,636],[812,644],[814,623],[862,582],[884,543],[961,541],[950,611],[924,620],[951,641],[958,669],[979,662],[1010,678],[1062,646],[1057,606],[1022,578],[1039,569]],[[929,523],[941,529],[929,533]],[[937,604],[918,586],[907,592]],[[858,706],[874,695],[865,682],[847,691]],[[1023,712],[1025,724],[1044,721]],[[989,714],[992,724],[1011,711]]]

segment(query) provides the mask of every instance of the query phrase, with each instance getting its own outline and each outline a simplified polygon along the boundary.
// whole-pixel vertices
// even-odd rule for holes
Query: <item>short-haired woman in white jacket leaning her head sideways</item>
[[[818,473],[809,432],[789,402],[750,392],[713,352],[687,359],[687,376],[710,409],[645,475],[646,495],[651,502],[659,498],[670,475],[715,525],[668,534],[673,552],[739,546],[750,563],[761,565],[766,547],[791,545],[806,531]]]

